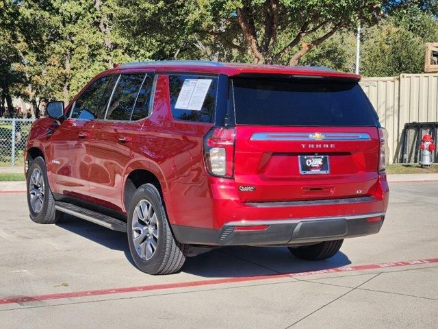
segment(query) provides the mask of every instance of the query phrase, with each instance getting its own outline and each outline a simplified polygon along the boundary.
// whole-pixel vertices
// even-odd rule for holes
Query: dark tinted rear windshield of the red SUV
[[[241,125],[375,126],[376,114],[357,82],[315,78],[233,78]]]

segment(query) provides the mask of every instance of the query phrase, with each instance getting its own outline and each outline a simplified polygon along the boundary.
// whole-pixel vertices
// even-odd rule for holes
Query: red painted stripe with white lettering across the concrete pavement
[[[155,291],[155,290],[164,290],[164,289],[199,287],[199,286],[208,286],[213,284],[248,282],[248,281],[256,281],[256,280],[275,279],[275,278],[289,278],[289,277],[293,278],[295,276],[311,276],[315,274],[324,274],[324,273],[363,271],[369,269],[385,269],[389,267],[411,266],[411,265],[430,264],[430,263],[438,263],[438,258],[404,260],[401,262],[394,262],[394,263],[354,265],[348,267],[336,267],[334,269],[322,269],[319,271],[273,274],[267,276],[244,276],[241,278],[222,278],[222,279],[198,280],[198,281],[188,281],[188,282],[171,282],[171,283],[163,283],[163,284],[151,284],[147,286],[138,286],[138,287],[122,287],[122,288],[114,288],[114,289],[73,291],[70,293],[51,293],[47,295],[10,297],[10,298],[0,299],[0,304],[23,304],[27,302],[40,302],[42,300],[62,300],[62,299],[75,298],[75,297],[113,295],[116,293],[134,293],[138,291]]]

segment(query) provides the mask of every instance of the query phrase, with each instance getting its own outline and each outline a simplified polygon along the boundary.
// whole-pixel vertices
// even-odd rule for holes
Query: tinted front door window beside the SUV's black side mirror
[[[93,82],[76,100],[73,119],[103,119],[118,75],[108,75]]]

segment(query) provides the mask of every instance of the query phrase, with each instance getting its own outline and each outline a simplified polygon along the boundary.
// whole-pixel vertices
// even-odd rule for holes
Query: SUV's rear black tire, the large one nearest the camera
[[[136,247],[141,249],[141,246],[139,243],[134,244],[133,241],[135,234],[138,234],[138,236],[141,235],[138,233],[138,231],[133,229],[133,222],[140,223],[140,221],[142,221],[138,220],[139,217],[137,213],[136,217],[134,218],[134,212],[137,211],[136,208],[140,202],[144,202],[145,200],[149,203],[149,206],[153,206],[153,213],[156,215],[155,223],[157,225],[157,241],[155,242],[155,251],[148,260],[146,260],[146,254],[143,255],[146,258],[142,258],[142,256],[140,256],[142,252],[138,251]],[[144,214],[143,217],[146,218]],[[142,222],[146,223],[146,221]],[[144,228],[146,228],[146,226]],[[144,229],[144,232],[147,232],[146,229]],[[129,205],[127,235],[131,256],[140,271],[154,275],[170,274],[179,271],[179,269],[181,269],[183,266],[185,261],[186,246],[176,241],[175,237],[173,236],[166,216],[166,211],[164,210],[162,197],[159,195],[157,188],[153,186],[153,184],[144,184],[138,188],[136,193],[134,193],[131,199],[131,204]],[[153,239],[152,234],[150,238]],[[146,241],[146,239],[148,238],[140,239],[138,241]],[[144,248],[146,250],[146,247]]]

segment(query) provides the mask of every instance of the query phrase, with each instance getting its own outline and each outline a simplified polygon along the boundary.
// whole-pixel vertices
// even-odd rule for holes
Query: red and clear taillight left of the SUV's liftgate
[[[234,140],[234,128],[213,127],[207,132],[204,137],[204,160],[210,175],[233,177]]]

